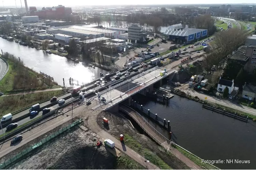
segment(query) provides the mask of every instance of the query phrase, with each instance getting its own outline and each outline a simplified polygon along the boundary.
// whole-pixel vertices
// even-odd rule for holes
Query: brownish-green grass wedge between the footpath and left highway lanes
[[[44,91],[34,94],[0,97],[0,117],[12,113],[31,104],[62,94],[62,90]]]

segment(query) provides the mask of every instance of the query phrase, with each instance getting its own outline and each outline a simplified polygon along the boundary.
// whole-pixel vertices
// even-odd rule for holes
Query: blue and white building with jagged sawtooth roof
[[[183,42],[189,42],[207,36],[207,30],[183,28],[182,24],[180,23],[169,26],[163,34],[166,35],[167,38],[174,41],[181,40]]]

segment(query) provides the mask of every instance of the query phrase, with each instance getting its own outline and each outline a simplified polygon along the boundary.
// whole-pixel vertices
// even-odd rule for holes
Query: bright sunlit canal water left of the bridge
[[[25,66],[32,68],[34,71],[41,71],[50,75],[59,85],[63,85],[63,78],[65,85],[69,85],[68,79],[70,77],[78,80],[81,84],[82,82],[89,83],[100,78],[100,72],[107,73],[107,71],[100,68],[85,67],[81,62],[74,63],[66,57],[48,54],[43,50],[37,50],[28,46],[21,46],[14,41],[7,41],[3,38],[0,38],[0,49],[3,52],[9,52],[16,57],[20,57]]]

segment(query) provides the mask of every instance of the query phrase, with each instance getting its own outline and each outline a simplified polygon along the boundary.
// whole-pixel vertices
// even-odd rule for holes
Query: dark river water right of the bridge
[[[250,164],[216,164],[221,169],[255,169],[256,123],[248,123],[202,109],[198,102],[174,96],[168,105],[133,98],[143,107],[170,120],[172,140],[202,159],[250,160]],[[167,132],[161,129],[167,136]],[[165,131],[165,132],[163,132]]]

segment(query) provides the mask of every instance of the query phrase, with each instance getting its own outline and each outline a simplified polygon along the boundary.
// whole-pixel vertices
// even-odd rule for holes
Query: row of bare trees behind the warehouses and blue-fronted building
[[[188,27],[195,27],[201,29],[208,29],[210,34],[215,32],[214,19],[210,15],[200,15],[198,17],[190,16],[186,17],[178,16],[174,14],[168,14],[165,10],[161,13],[153,13],[151,15],[143,13],[135,13],[127,16],[120,15],[100,15],[95,14],[89,16],[87,21],[91,24],[102,24],[107,23],[109,27],[128,27],[131,23],[139,23],[143,26],[143,31],[159,33],[160,27],[163,26],[163,23],[166,24],[176,24],[183,23],[188,25]]]

